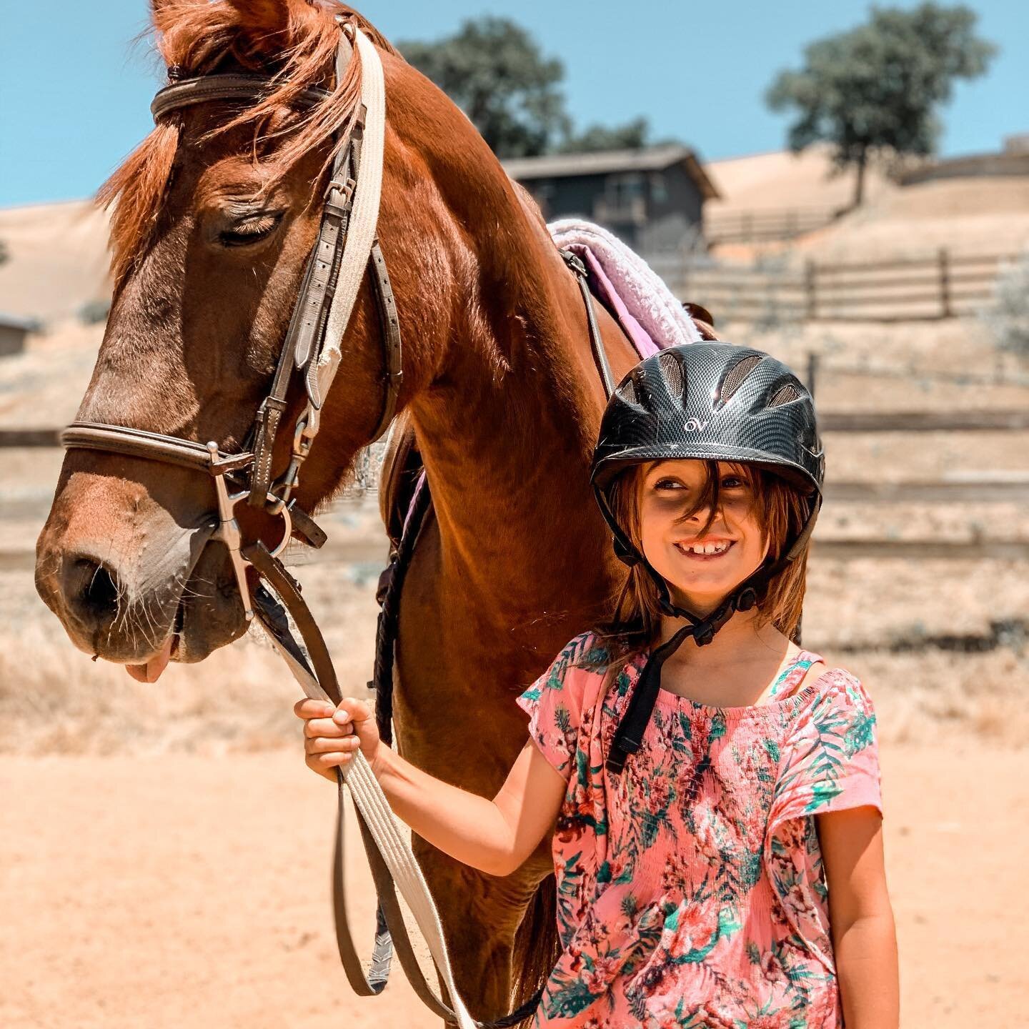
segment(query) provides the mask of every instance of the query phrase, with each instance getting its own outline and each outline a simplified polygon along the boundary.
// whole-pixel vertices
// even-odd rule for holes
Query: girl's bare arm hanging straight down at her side
[[[896,1029],[900,988],[882,816],[865,805],[815,817],[844,1022],[847,1029]]]

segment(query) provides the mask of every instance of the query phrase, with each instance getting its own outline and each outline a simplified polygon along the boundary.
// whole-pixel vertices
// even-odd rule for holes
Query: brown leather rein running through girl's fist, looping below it
[[[254,566],[260,577],[272,587],[282,601],[282,606],[280,606],[262,588],[254,591],[255,613],[276,650],[308,697],[314,700],[328,699],[332,704],[339,704],[342,696],[332,659],[321,631],[318,629],[318,624],[300,594],[298,583],[282,562],[272,556],[263,543],[252,543],[244,547],[242,553],[243,557]],[[286,611],[296,626],[300,639],[304,641],[304,648],[289,631]],[[307,653],[305,653],[305,648]],[[435,995],[421,970],[403,921],[393,876],[380,852],[376,833],[367,824],[358,806],[356,808],[358,825],[371,868],[380,908],[377,917],[379,924],[377,925],[372,960],[367,973],[364,971],[354,946],[347,915],[344,878],[346,828],[344,782],[345,779],[341,773],[338,776],[339,804],[335,849],[332,858],[332,907],[335,918],[336,947],[347,980],[360,996],[374,996],[381,993],[389,978],[390,950],[391,947],[395,947],[400,965],[419,998],[439,1018],[449,1022],[457,1021],[456,1013],[447,1002]],[[440,977],[440,984],[442,985],[442,983],[443,980]],[[442,988],[446,994],[446,986],[443,985]]]

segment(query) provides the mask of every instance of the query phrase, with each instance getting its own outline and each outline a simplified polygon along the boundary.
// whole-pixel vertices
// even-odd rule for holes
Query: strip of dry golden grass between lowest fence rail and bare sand
[[[300,570],[327,627],[345,691],[366,696],[375,588],[345,565]],[[171,666],[161,682],[76,651],[23,573],[0,575],[0,753],[217,755],[296,745],[300,696],[257,631],[199,665]],[[21,596],[15,613],[12,594]],[[1029,655],[1013,639],[992,651],[891,646],[949,633],[988,636],[991,619],[1029,611],[1029,577],[1015,562],[866,559],[814,562],[805,643],[858,675],[889,742],[978,737],[1029,745]]]

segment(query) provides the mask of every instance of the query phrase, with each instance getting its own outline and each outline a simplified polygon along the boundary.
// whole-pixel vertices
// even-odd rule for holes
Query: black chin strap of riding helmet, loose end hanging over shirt
[[[626,758],[629,754],[636,753],[643,743],[643,734],[650,721],[653,713],[653,705],[658,700],[658,691],[661,689],[661,670],[665,662],[682,646],[687,639],[693,639],[698,646],[706,646],[710,643],[715,633],[737,612],[749,611],[757,604],[761,603],[768,595],[769,583],[788,564],[795,561],[803,551],[805,544],[811,538],[811,533],[815,528],[815,519],[818,508],[821,506],[821,498],[816,498],[811,513],[808,516],[804,528],[796,539],[793,540],[789,549],[780,555],[776,560],[767,560],[756,571],[747,576],[710,614],[701,616],[685,608],[678,607],[672,603],[671,592],[668,583],[653,569],[649,562],[642,559],[635,551],[632,554],[623,556],[634,558],[633,563],[642,563],[658,587],[659,606],[662,613],[670,617],[685,618],[689,625],[683,626],[667,642],[663,643],[650,654],[643,671],[640,672],[639,681],[629,699],[629,706],[626,708],[618,728],[615,731],[614,739],[608,751],[606,766],[609,772],[619,774],[625,768]],[[615,544],[617,551],[617,537]],[[623,547],[624,548],[624,547]],[[627,564],[629,562],[627,561]]]

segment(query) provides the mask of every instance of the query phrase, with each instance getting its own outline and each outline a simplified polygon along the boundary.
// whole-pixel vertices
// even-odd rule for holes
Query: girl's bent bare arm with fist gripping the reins
[[[397,817],[464,864],[507,876],[554,827],[567,784],[531,740],[489,801],[434,779],[385,746],[370,708],[361,701],[347,698],[335,710],[307,700],[294,711],[306,722],[309,768],[334,781],[334,770],[360,747]]]

